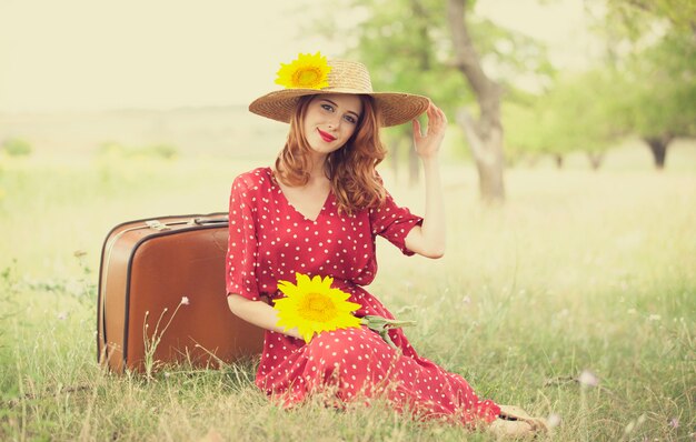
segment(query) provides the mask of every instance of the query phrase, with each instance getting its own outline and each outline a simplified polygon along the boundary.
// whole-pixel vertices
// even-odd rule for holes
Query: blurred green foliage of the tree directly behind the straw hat
[[[553,69],[546,49],[533,39],[476,18],[468,22],[478,52],[491,77],[507,91],[508,100],[518,97],[513,79],[518,74],[548,77]],[[332,13],[322,14],[315,24],[328,38],[351,41],[346,57],[361,60],[370,69],[376,90],[408,91],[430,97],[443,110],[454,115],[475,97],[466,79],[454,67],[453,43],[447,23],[447,8],[440,0],[348,0]],[[360,10],[364,19],[341,28],[337,8]],[[454,118],[453,118],[454,120]],[[401,125],[390,137],[409,137],[410,128]]]

